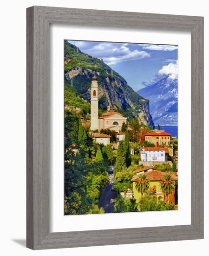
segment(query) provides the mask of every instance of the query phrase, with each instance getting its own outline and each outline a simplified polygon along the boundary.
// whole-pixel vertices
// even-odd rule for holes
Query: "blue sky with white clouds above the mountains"
[[[173,45],[74,41],[82,52],[101,57],[135,90],[144,88],[166,75],[177,78],[177,49]]]

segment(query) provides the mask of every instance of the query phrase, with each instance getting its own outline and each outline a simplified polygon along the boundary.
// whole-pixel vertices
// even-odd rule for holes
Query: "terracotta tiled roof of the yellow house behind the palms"
[[[147,179],[150,182],[154,182],[154,181],[161,181],[164,177],[164,175],[171,175],[171,178],[174,180],[177,180],[177,172],[161,172],[161,171],[157,171],[157,170],[152,170],[150,172],[145,173]],[[131,182],[136,182],[138,180],[138,177],[140,175],[134,175],[131,179]]]

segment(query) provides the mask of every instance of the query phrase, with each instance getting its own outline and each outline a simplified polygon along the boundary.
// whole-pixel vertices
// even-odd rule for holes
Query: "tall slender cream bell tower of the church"
[[[91,130],[98,129],[98,82],[94,75],[91,81]]]

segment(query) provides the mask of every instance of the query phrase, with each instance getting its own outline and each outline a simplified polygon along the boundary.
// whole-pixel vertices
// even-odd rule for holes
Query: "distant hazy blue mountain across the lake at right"
[[[178,81],[164,77],[155,84],[137,91],[150,100],[150,113],[155,124],[177,125]]]

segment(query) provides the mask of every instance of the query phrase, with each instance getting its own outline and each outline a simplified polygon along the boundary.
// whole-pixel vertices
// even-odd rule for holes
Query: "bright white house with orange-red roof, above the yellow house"
[[[165,162],[168,160],[168,148],[142,148],[141,161],[148,162]]]

